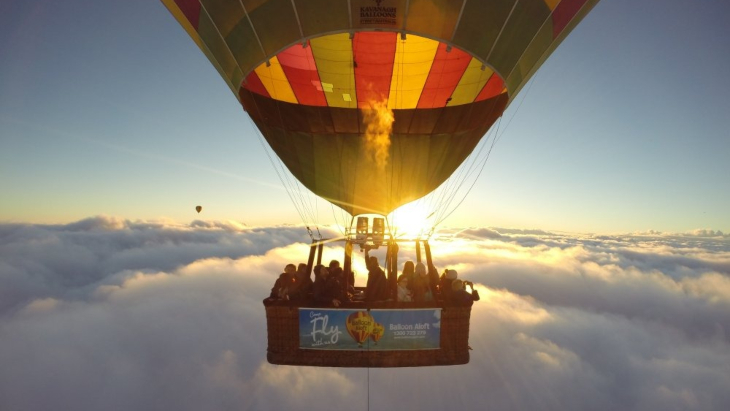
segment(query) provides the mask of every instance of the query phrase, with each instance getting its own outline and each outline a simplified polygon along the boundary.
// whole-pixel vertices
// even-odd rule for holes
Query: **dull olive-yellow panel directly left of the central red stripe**
[[[309,40],[322,90],[330,107],[356,108],[355,67],[348,33]]]

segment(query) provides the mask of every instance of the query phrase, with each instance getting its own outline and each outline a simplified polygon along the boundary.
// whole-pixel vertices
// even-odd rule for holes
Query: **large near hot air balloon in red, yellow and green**
[[[352,217],[345,277],[353,246],[385,245],[394,291],[398,245],[383,217],[454,173],[598,0],[162,2],[283,167]],[[370,225],[365,214],[378,217]],[[312,240],[310,272],[324,239]],[[417,260],[423,246],[435,270],[427,239],[419,241]],[[370,351],[360,363],[346,353],[310,356],[299,349],[297,319],[279,308],[266,307],[272,363],[414,366],[469,359],[470,307],[444,310],[438,350],[408,361]],[[372,336],[370,327],[350,335],[361,344]]]

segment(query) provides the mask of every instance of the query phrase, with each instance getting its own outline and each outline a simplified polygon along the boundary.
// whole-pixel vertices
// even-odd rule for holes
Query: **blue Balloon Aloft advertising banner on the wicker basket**
[[[313,350],[435,350],[441,309],[299,309],[299,348]]]

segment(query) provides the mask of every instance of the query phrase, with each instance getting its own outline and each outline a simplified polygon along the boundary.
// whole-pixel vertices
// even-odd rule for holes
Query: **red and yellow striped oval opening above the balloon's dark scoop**
[[[315,107],[459,106],[506,93],[502,77],[456,46],[414,34],[359,31],[296,43],[251,71],[242,89]]]

